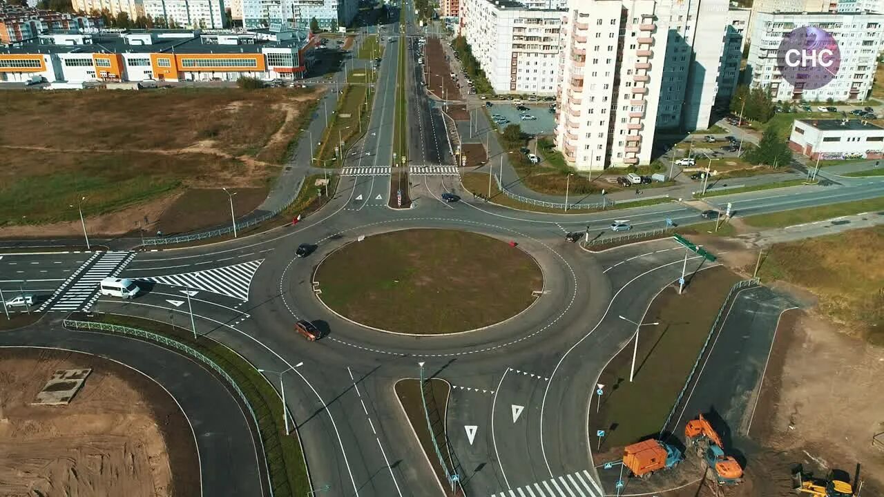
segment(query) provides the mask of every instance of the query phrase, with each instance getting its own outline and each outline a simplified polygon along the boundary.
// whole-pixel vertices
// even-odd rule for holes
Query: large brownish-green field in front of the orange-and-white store
[[[84,215],[94,216],[184,188],[267,187],[318,96],[302,88],[2,92],[0,224],[75,220],[67,205],[82,196]]]

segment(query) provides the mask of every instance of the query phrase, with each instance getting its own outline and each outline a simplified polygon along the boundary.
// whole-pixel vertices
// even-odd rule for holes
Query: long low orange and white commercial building
[[[0,82],[293,80],[309,46],[302,30],[46,34],[0,48]]]

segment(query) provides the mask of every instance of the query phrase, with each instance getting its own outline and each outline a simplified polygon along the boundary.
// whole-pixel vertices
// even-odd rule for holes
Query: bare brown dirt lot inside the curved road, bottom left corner
[[[92,368],[67,406],[31,406],[52,371]],[[0,495],[199,494],[193,432],[149,378],[95,356],[0,349]]]

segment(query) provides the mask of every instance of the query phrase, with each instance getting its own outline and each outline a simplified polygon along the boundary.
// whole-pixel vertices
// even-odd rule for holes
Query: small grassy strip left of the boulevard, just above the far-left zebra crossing
[[[369,127],[371,99],[370,89],[362,85],[347,85],[338,97],[338,108],[329,116],[329,126],[325,128],[322,143],[316,149],[316,165],[324,164],[326,167],[339,165],[335,148],[339,145],[339,139],[343,142],[346,153],[353,143],[359,140]],[[369,111],[366,111],[368,109]],[[362,121],[362,122],[360,122]]]

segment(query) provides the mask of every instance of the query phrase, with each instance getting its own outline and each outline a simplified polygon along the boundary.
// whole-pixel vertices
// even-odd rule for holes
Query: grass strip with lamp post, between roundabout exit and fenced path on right
[[[739,280],[723,268],[700,271],[690,280],[685,294],[667,287],[654,299],[642,321],[660,325],[643,326],[639,333],[634,381],[629,383],[631,344],[613,358],[598,379],[606,385],[606,395],[600,414],[594,409],[591,412],[590,428],[591,432],[606,430],[603,450],[659,432],[725,296]]]

